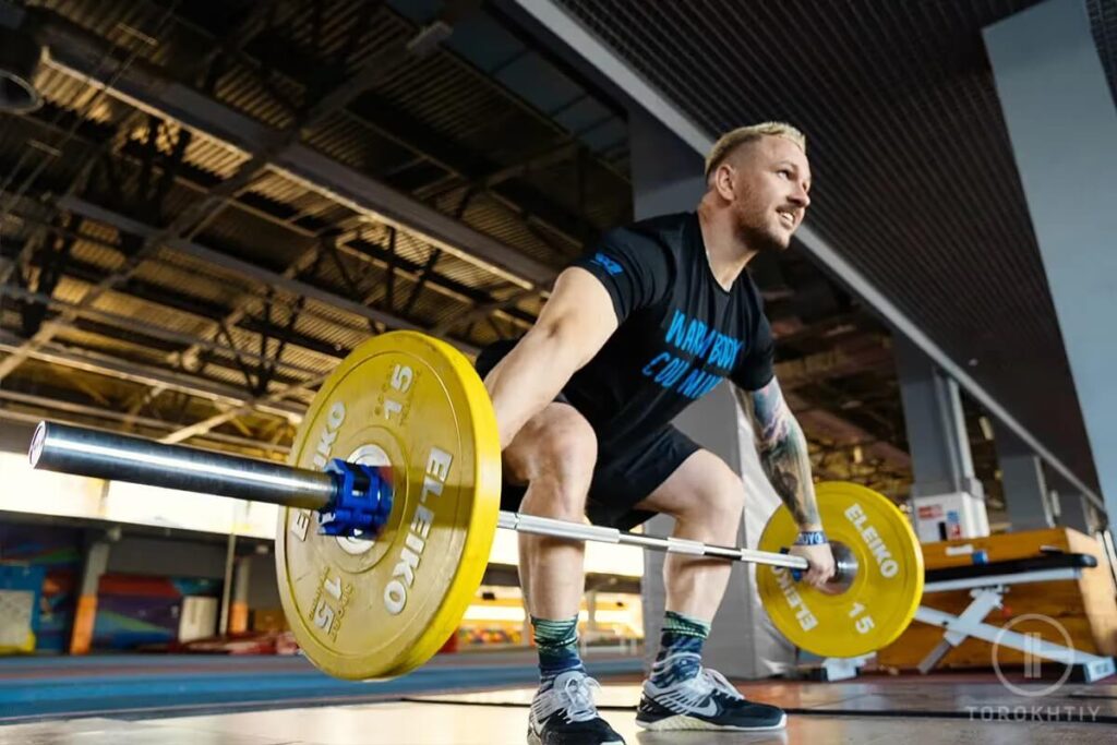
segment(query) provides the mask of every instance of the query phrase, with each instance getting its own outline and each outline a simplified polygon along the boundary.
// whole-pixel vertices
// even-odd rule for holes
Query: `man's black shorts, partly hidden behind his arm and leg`
[[[515,345],[498,342],[477,355],[477,372],[485,378]],[[555,402],[574,407],[562,392]],[[574,407],[576,410],[577,407]],[[599,438],[600,439],[600,438]],[[667,480],[699,446],[672,426],[667,426],[631,447],[599,452],[593,480],[585,502],[585,514],[594,525],[629,531],[655,516],[643,509],[632,509]],[[503,481],[500,509],[517,512],[527,493],[526,486]]]

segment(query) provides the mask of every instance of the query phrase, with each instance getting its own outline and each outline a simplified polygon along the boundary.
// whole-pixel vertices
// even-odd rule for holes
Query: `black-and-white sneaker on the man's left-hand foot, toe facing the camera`
[[[598,715],[594,688],[601,686],[582,670],[563,672],[541,688],[527,717],[528,745],[624,745]]]

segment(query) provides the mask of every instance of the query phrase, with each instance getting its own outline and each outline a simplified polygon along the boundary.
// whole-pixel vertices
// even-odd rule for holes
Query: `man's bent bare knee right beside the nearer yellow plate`
[[[593,428],[573,407],[560,403],[533,417],[504,451],[506,476],[519,484],[545,486],[548,498],[579,509],[584,506],[596,460]]]

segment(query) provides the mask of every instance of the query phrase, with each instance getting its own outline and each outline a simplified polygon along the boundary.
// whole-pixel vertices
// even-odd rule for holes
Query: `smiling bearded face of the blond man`
[[[765,136],[727,160],[733,168],[731,209],[745,243],[760,251],[783,250],[811,203],[811,166],[799,145]]]

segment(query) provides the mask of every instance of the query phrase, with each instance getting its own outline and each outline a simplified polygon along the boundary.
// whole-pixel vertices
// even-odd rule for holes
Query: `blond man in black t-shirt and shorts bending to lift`
[[[831,577],[806,441],[773,376],[773,341],[745,267],[787,248],[810,204],[805,139],[786,124],[723,136],[706,162],[695,213],[608,233],[563,271],[536,324],[481,352],[478,372],[496,410],[505,509],[622,529],[653,513],[674,536],[733,544],[744,487],[717,456],[671,426],[723,378],[738,389],[765,472],[791,509],[805,581]],[[577,653],[584,544],[519,536],[519,575],[538,647],[533,743],[617,743],[598,716]],[[650,729],[773,729],[785,716],[747,701],[700,663],[729,565],[669,555],[659,653],[637,722]]]

